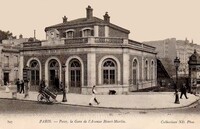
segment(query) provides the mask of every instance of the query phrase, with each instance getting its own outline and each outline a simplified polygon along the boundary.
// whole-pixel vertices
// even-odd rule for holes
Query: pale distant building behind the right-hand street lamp
[[[200,45],[194,44],[193,41],[189,42],[185,40],[176,40],[175,38],[158,40],[158,41],[145,41],[148,45],[156,47],[157,57],[161,60],[168,73],[175,75],[174,59],[180,58],[179,75],[187,76],[189,74],[188,61],[189,56],[192,55],[194,49],[200,52]]]

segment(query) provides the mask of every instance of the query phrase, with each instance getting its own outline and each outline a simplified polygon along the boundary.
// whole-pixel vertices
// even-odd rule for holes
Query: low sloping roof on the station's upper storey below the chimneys
[[[106,22],[100,18],[97,18],[97,17],[92,17],[90,19],[88,18],[78,18],[78,19],[75,19],[75,20],[71,20],[71,21],[67,21],[67,22],[64,22],[64,23],[59,23],[59,24],[56,24],[56,25],[52,25],[52,26],[49,26],[49,27],[46,27],[45,28],[45,31],[49,30],[49,29],[61,29],[61,28],[64,28],[64,27],[71,27],[71,26],[77,26],[77,25],[88,25],[88,24],[98,24],[98,25],[108,25],[112,28],[115,28],[115,29],[118,29],[120,31],[123,31],[125,33],[130,33],[129,30],[127,29],[124,29],[122,27],[119,27],[117,25],[114,25],[110,22]]]

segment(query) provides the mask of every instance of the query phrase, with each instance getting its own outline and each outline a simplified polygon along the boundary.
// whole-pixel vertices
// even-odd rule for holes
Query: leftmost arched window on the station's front
[[[40,82],[40,67],[39,63],[36,60],[32,60],[30,62],[30,71],[31,71],[31,78],[30,78],[30,83],[31,85],[39,85]]]

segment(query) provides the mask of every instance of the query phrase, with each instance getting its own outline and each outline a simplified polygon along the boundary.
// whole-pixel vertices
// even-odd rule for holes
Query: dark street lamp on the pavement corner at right
[[[178,90],[177,90],[177,84],[178,84],[178,67],[180,66],[180,60],[178,57],[176,57],[176,59],[174,59],[174,65],[176,67],[176,84],[175,84],[175,104],[180,104],[180,101],[179,101],[179,97],[178,97]]]

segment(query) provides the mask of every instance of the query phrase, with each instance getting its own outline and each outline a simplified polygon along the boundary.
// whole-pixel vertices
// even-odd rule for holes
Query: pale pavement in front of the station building
[[[16,92],[16,88],[6,87],[0,88],[0,98],[14,99],[12,93]],[[38,92],[29,92],[29,96],[24,98],[24,94],[17,93],[17,100],[37,101]],[[88,106],[92,95],[67,93],[67,102],[62,102],[63,95],[57,95],[58,104]],[[180,96],[180,93],[179,93]],[[96,108],[113,108],[113,109],[133,109],[133,110],[154,110],[154,109],[173,109],[183,108],[194,105],[200,99],[199,95],[187,94],[188,99],[183,96],[180,104],[175,104],[174,92],[132,92],[122,95],[96,95],[99,105],[93,104]]]

